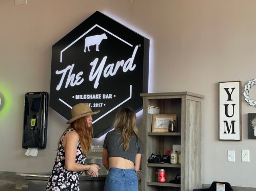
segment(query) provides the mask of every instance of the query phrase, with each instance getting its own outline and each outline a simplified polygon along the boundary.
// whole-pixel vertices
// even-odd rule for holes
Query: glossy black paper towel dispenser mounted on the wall
[[[22,147],[46,148],[48,93],[25,94]]]

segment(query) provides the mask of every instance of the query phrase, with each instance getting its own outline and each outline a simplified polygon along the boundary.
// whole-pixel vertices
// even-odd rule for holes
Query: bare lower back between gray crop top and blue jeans
[[[134,163],[121,157],[109,157],[109,168],[134,169]]]

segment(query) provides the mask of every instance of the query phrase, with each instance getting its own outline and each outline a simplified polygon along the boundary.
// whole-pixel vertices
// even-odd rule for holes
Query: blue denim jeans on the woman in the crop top
[[[138,179],[134,169],[110,168],[104,191],[138,191]]]

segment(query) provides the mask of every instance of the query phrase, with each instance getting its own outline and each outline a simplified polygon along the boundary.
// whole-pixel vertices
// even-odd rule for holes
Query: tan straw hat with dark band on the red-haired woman
[[[78,118],[88,116],[88,115],[97,114],[99,112],[100,112],[100,110],[93,112],[91,110],[91,107],[87,103],[76,104],[71,109],[71,114],[72,114],[73,118],[71,118],[71,120],[69,120],[67,122],[67,124],[71,124],[73,121],[77,120]]]

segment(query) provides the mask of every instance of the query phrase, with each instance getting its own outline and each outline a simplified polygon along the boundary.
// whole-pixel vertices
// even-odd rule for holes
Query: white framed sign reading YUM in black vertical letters
[[[242,140],[241,81],[219,82],[219,140]]]

